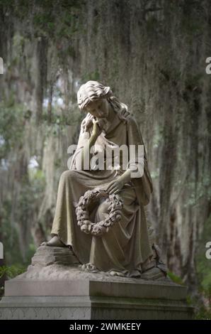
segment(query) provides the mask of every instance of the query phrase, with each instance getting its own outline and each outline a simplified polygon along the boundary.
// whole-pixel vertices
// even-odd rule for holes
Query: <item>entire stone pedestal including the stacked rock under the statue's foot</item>
[[[150,279],[84,271],[69,249],[39,247],[28,271],[6,281],[0,319],[192,318],[185,286]]]

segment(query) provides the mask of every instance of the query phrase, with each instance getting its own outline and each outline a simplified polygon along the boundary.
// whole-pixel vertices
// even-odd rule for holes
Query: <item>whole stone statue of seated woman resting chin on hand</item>
[[[82,269],[140,276],[160,268],[163,275],[144,212],[153,188],[139,126],[127,106],[100,82],[81,85],[77,98],[85,117],[69,170],[59,181],[52,239],[43,244],[69,247]],[[136,150],[131,156],[132,146]],[[103,168],[98,168],[100,153],[120,147],[128,149],[127,168],[122,154],[119,160],[112,154],[109,166],[105,156]],[[84,168],[87,161],[89,168]]]

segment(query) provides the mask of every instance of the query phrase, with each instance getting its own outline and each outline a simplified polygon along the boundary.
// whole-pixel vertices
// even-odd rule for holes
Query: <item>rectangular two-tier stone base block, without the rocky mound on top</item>
[[[1,319],[191,319],[186,287],[153,281],[8,281]]]

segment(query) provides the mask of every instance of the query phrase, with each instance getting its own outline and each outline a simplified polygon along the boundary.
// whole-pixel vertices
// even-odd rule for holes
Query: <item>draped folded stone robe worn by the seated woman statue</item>
[[[86,115],[88,117],[89,114]],[[119,271],[127,276],[130,273],[141,272],[142,264],[152,257],[152,247],[149,243],[147,220],[144,215],[144,205],[149,203],[152,193],[152,179],[147,165],[147,155],[144,148],[144,174],[141,178],[131,178],[118,195],[122,198],[122,217],[110,230],[101,237],[86,235],[77,225],[75,206],[86,190],[106,188],[110,181],[118,178],[122,170],[77,170],[76,159],[86,141],[91,136],[91,130],[81,129],[77,149],[72,158],[69,171],[64,171],[59,181],[55,218],[52,224],[52,235],[58,235],[64,244],[71,245],[81,264],[91,263],[101,271]],[[115,114],[108,131],[103,131],[96,141],[98,148],[125,144],[144,145],[139,127],[132,114],[123,121]],[[136,151],[134,163],[138,163]],[[121,163],[122,161],[120,161]],[[91,221],[102,220],[100,206],[91,212]],[[105,209],[105,208],[104,208]]]

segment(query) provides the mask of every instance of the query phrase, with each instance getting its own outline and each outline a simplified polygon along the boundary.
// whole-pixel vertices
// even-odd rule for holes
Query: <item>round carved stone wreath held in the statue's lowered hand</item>
[[[97,203],[100,200],[105,199],[105,201],[110,204],[108,206],[108,216],[105,220],[101,222],[91,222],[89,219],[89,205]],[[81,231],[87,235],[101,236],[105,232],[110,230],[115,222],[121,219],[121,210],[123,202],[118,194],[109,194],[105,190],[93,189],[87,190],[84,196],[79,198],[79,203],[76,206],[76,217]]]

